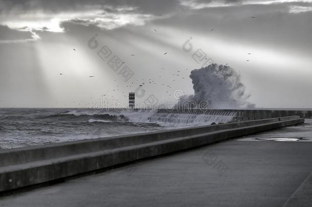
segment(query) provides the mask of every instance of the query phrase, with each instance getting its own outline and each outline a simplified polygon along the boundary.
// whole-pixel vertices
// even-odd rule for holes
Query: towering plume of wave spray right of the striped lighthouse
[[[175,108],[255,108],[240,75],[227,65],[210,64],[191,71],[194,95],[182,96]]]

